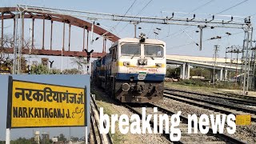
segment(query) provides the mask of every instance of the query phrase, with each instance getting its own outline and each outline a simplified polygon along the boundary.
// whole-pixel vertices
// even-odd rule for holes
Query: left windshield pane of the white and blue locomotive
[[[121,46],[121,54],[129,56],[140,56],[141,46],[138,44],[124,44]]]

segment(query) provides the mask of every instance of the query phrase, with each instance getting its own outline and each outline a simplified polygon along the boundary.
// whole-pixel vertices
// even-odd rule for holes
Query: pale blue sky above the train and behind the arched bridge
[[[134,3],[134,5],[132,5]],[[206,14],[222,14],[232,16],[246,17],[256,14],[254,6],[256,1],[254,0],[109,0],[109,1],[66,1],[66,0],[2,0],[0,6],[16,6],[17,4],[30,5],[30,6],[45,6],[51,8],[60,8],[66,10],[83,10],[98,13],[107,14],[126,14],[126,15],[138,15],[147,17],[166,17],[170,16],[172,12],[175,12],[178,16],[191,17],[192,13],[196,14],[198,18],[206,17]],[[230,19],[229,17],[222,17],[223,19]],[[88,22],[90,19],[82,18]],[[239,18],[234,18],[238,20]],[[240,19],[241,20],[241,19]],[[5,21],[6,27],[5,34],[12,34],[13,20]],[[119,38],[134,37],[134,26],[127,22],[112,22],[109,20],[98,19],[103,29],[111,30]],[[253,26],[255,18],[252,18]],[[30,23],[31,19],[25,20],[25,38],[30,38]],[[61,50],[62,48],[62,23],[54,22],[54,38],[53,47],[54,50]],[[114,27],[114,28],[113,28]],[[219,45],[220,50],[218,56],[225,57],[226,47],[239,45],[242,46],[244,38],[243,30],[240,29],[227,29],[227,28],[210,28],[203,30],[203,40],[222,36],[222,39],[211,40],[202,42],[202,50],[195,45],[194,42],[199,41],[199,34],[195,31],[198,30],[197,26],[176,26],[176,25],[158,25],[150,23],[139,23],[138,27],[142,29],[137,30],[137,35],[145,33],[149,38],[156,38],[154,30],[158,32],[158,38],[166,42],[166,54],[180,54],[180,55],[194,55],[212,57],[214,54],[214,45]],[[156,28],[162,30],[157,31]],[[231,35],[228,37],[226,32]],[[46,21],[46,49],[50,49],[50,22]],[[94,38],[98,37],[94,34]],[[42,20],[36,20],[35,22],[35,46],[42,47]],[[65,47],[68,47],[68,26],[66,26]],[[193,42],[194,41],[194,42]],[[107,49],[110,47],[111,42],[107,42]],[[71,28],[71,50],[82,50],[82,29],[73,26]],[[89,44],[89,49],[94,51],[102,51],[102,38],[95,41],[92,45]],[[50,60],[54,60],[54,68],[61,68],[60,57],[50,57]],[[32,56],[30,61],[41,61],[42,56]],[[230,58],[230,55],[228,55]],[[26,59],[27,56],[26,56]],[[78,68],[78,66],[72,64],[71,58],[62,58],[63,69],[66,68]]]

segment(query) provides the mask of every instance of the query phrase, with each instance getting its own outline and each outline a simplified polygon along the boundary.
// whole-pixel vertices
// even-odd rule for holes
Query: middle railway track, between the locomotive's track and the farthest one
[[[202,107],[208,110],[214,110],[216,112],[220,112],[222,114],[250,114],[251,121],[256,122],[256,110],[251,110],[248,108],[243,108],[241,106],[228,105],[221,102],[213,102],[210,100],[205,100],[201,98],[193,98],[187,96],[186,94],[176,94],[174,92],[165,91],[165,98],[170,98],[176,100],[178,102],[185,102],[187,104]]]

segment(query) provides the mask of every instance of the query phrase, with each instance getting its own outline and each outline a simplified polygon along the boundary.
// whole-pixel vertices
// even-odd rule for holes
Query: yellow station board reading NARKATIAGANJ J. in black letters
[[[86,88],[10,77],[8,93],[7,127],[86,126]]]

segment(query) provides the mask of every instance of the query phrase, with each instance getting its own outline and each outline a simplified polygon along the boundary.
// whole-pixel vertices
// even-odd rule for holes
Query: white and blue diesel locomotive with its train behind
[[[92,62],[91,78],[120,102],[158,102],[163,98],[166,43],[158,39],[122,38],[110,53]]]

